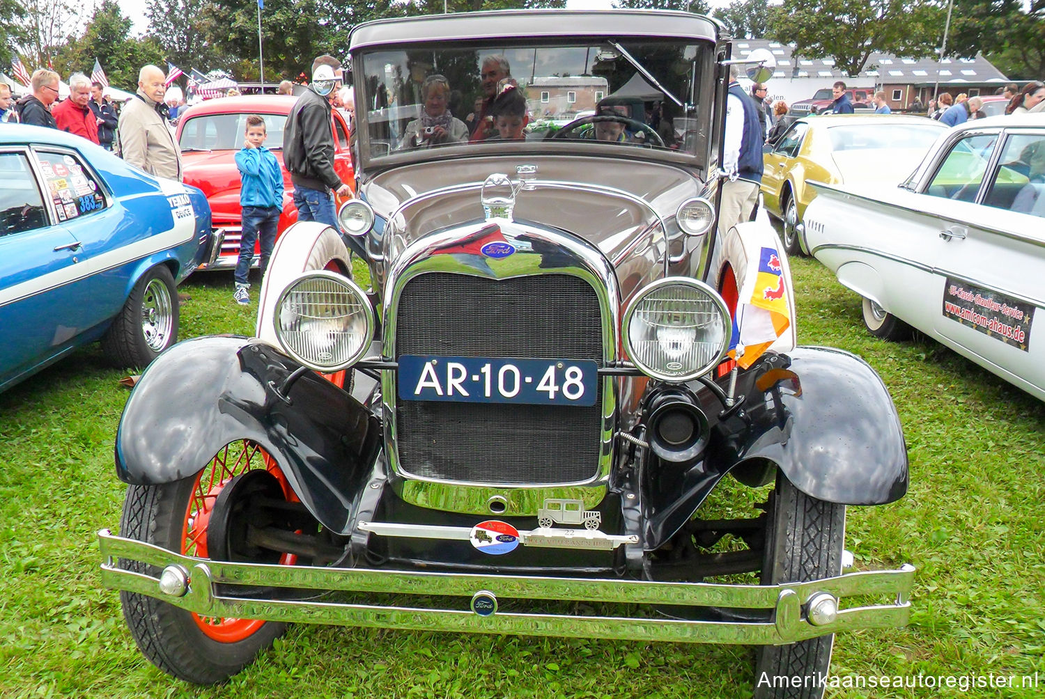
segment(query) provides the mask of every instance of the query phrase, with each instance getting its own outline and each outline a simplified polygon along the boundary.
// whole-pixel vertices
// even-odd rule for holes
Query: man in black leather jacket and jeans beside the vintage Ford
[[[327,96],[341,87],[341,62],[321,55],[312,62],[308,90],[291,108],[283,127],[283,164],[294,183],[298,220],[317,220],[338,230],[331,190],[352,193],[333,169],[333,133]]]

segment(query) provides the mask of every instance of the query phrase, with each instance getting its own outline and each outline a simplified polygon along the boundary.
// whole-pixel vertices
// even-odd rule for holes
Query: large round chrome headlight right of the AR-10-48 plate
[[[688,381],[717,365],[729,347],[729,311],[711,286],[668,277],[634,298],[624,314],[628,356],[644,374]]]

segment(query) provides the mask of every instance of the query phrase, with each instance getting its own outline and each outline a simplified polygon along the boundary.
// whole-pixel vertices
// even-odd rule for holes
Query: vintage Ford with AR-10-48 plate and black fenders
[[[905,624],[913,568],[841,570],[845,506],[906,491],[889,395],[795,346],[768,226],[716,235],[721,26],[451,15],[350,52],[340,217],[369,290],[340,234],[296,225],[257,336],[176,346],[121,419],[102,578],[142,652],[216,682],[314,622],[747,644],[760,676],[813,677],[834,632]],[[494,138],[425,141],[458,129],[429,102],[481,130],[510,91],[521,138],[494,110]],[[635,99],[661,123],[609,109]],[[750,516],[707,509],[772,484]]]

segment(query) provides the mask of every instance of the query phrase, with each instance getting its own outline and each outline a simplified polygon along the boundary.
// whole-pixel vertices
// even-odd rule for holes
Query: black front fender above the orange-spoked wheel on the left
[[[301,502],[344,533],[369,481],[380,427],[348,393],[257,340],[210,336],[171,347],[131,393],[116,433],[116,474],[155,485],[194,475],[222,447],[257,442]]]

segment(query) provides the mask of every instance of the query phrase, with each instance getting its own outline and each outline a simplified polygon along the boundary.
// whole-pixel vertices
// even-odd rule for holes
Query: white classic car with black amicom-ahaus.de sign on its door
[[[1045,400],[1045,114],[948,132],[895,189],[816,186],[803,247],[872,333],[918,328]]]

